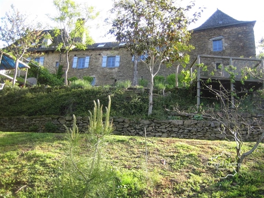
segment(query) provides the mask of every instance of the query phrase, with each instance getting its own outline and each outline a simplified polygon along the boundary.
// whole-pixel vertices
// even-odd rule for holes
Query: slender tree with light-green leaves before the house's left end
[[[69,52],[75,47],[85,50],[87,45],[94,43],[89,36],[86,22],[94,19],[98,12],[95,13],[93,7],[88,7],[86,4],[76,4],[72,0],[54,0],[53,4],[58,11],[58,15],[52,19],[60,26],[59,29],[54,29],[54,36],[61,37],[57,50],[65,52],[67,64],[65,68],[65,85],[68,85]]]

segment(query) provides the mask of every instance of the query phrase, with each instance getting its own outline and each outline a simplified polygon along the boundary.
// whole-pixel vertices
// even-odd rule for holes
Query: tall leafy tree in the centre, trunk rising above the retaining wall
[[[172,0],[118,0],[114,3],[116,17],[109,32],[118,42],[126,42],[134,57],[146,57],[143,63],[151,76],[148,115],[153,108],[154,76],[162,64],[178,56],[179,52],[174,54],[177,44],[189,36],[187,27],[194,19],[189,19],[186,12],[193,5],[176,7]]]

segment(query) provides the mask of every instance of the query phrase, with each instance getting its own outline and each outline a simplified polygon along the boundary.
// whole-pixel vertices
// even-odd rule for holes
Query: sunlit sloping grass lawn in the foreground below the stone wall
[[[0,132],[0,197],[54,197],[66,143],[65,134]],[[106,137],[106,162],[124,186],[140,183],[139,194],[116,197],[264,197],[263,144],[234,176],[227,176],[235,174],[234,142],[148,137],[147,162],[145,146],[145,137]],[[85,138],[80,147],[85,157]]]

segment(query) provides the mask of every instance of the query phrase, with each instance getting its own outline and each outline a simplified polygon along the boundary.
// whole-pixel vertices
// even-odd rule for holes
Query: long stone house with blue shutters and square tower
[[[256,55],[254,25],[255,21],[237,21],[217,10],[204,24],[193,29],[190,44],[195,49],[190,52],[190,63],[195,60],[198,54],[254,57]],[[36,49],[36,52],[41,52],[40,55],[34,58],[47,66],[50,71],[56,72],[58,65],[66,65],[65,54],[55,50],[56,41],[46,39],[44,43],[45,45]],[[132,55],[124,43],[95,43],[88,46],[86,50],[73,49],[69,53],[69,61],[68,77],[92,76],[94,85],[112,85],[116,81],[132,81]],[[230,60],[219,57],[204,58],[201,62],[211,67],[211,70],[218,70],[218,77],[223,77],[223,72],[218,68],[219,65],[230,64]],[[190,64],[189,67],[191,66]],[[175,68],[162,66],[159,75],[167,76],[174,72]],[[149,79],[147,67],[140,63],[138,78]]]

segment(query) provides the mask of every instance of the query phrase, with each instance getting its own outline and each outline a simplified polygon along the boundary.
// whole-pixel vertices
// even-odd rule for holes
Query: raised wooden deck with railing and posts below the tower
[[[196,65],[197,66],[197,93],[196,93],[196,98],[197,98],[197,107],[200,105],[200,81],[201,78],[215,78],[218,80],[229,80],[230,81],[230,90],[231,92],[234,91],[234,83],[231,81],[231,78],[229,75],[222,75],[222,76],[202,76],[200,72],[200,63],[201,63],[201,58],[215,58],[215,59],[220,59],[220,60],[229,60],[229,65],[233,66],[234,61],[246,61],[246,62],[256,62],[256,64],[253,65],[253,68],[256,68],[257,66],[260,65],[261,69],[264,69],[264,61],[263,59],[258,59],[258,58],[243,58],[243,57],[230,57],[230,56],[213,56],[213,55],[197,55],[195,60],[192,62],[191,67],[190,67],[190,75],[192,76],[192,69]],[[240,67],[242,68],[242,67]],[[236,76],[237,77],[237,76]],[[239,79],[239,78],[237,78]],[[250,79],[249,81],[252,82],[261,82],[263,84],[263,80],[256,80],[256,79]],[[234,96],[231,95],[231,102],[234,104]]]

